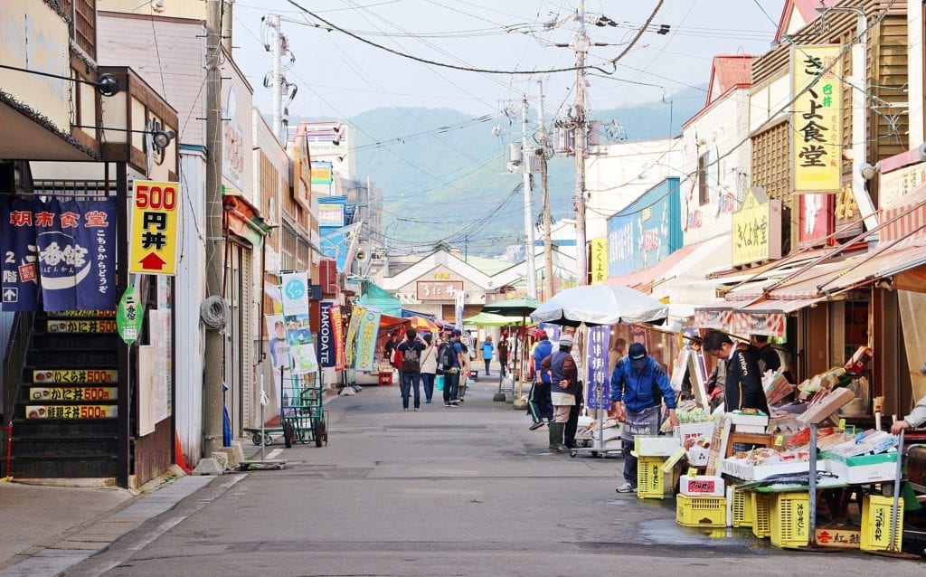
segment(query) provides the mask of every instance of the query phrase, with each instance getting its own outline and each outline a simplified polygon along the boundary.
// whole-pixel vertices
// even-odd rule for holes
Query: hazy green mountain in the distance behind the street
[[[705,91],[686,89],[670,101],[594,111],[614,125],[602,142],[650,140],[681,132],[704,104]],[[391,249],[426,253],[440,242],[466,245],[469,254],[493,256],[523,242],[520,174],[506,171],[507,143],[519,141],[520,118],[472,119],[450,108],[377,108],[349,119],[357,127],[357,172],[369,175],[384,197],[385,241]],[[499,125],[502,136],[493,135]],[[397,140],[398,139],[398,140]],[[573,214],[575,164],[553,157],[549,190],[553,218]],[[532,218],[541,213],[539,174],[532,188]]]

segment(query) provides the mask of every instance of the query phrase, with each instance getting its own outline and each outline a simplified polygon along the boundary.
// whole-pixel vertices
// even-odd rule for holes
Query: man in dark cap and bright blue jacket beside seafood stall
[[[666,371],[653,357],[646,355],[646,347],[633,343],[627,350],[627,357],[619,360],[611,373],[611,409],[624,426],[620,439],[624,455],[624,483],[618,493],[631,493],[637,486],[637,458],[631,454],[636,435],[659,433],[662,421],[661,396],[669,408],[669,424],[679,424],[675,416],[675,392],[669,384]]]

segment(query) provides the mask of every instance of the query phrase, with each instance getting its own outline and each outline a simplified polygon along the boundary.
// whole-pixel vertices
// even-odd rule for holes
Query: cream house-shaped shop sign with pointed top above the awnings
[[[770,200],[761,186],[746,193],[732,215],[732,264],[782,257],[782,201]]]

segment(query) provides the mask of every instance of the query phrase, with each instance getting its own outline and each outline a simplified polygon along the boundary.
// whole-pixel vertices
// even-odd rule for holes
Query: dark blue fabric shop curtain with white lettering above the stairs
[[[0,198],[0,309],[116,307],[116,200]]]

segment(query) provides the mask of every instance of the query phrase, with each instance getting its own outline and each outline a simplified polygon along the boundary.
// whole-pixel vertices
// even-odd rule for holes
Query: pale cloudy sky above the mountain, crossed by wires
[[[267,14],[282,17],[294,63],[285,72],[298,86],[291,117],[343,119],[377,107],[451,107],[480,117],[497,114],[527,93],[536,106],[544,80],[547,118],[564,114],[574,99],[575,37],[579,0],[237,0],[234,58],[254,87],[254,101],[269,114],[264,77]],[[589,0],[586,21],[594,45],[589,107],[606,109],[671,99],[707,84],[711,57],[761,55],[770,48],[784,0]],[[327,23],[320,19],[327,20]],[[668,25],[666,34],[658,33]],[[350,31],[376,47],[336,29]],[[557,47],[556,44],[567,44]],[[629,46],[629,49],[628,49]],[[492,74],[444,68],[405,55]],[[609,61],[627,49],[615,66]],[[289,58],[287,57],[286,60]],[[512,74],[512,71],[534,72]],[[608,72],[603,73],[603,72]],[[532,82],[533,81],[533,82]],[[690,96],[694,97],[694,96]]]

